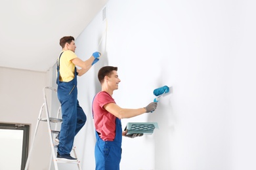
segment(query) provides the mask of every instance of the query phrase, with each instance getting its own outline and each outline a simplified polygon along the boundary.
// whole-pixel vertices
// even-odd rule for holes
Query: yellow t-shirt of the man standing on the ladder
[[[64,50],[60,57],[60,81],[70,82],[74,78],[75,65],[72,63],[72,59],[77,58],[74,52],[71,50]]]

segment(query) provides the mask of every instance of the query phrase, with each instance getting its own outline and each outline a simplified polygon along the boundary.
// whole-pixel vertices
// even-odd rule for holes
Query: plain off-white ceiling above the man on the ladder
[[[61,37],[76,37],[108,0],[1,0],[0,67],[47,71]]]

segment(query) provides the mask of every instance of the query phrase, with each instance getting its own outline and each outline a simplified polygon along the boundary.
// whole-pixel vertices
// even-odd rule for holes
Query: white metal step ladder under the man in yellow
[[[58,170],[58,163],[77,164],[78,169],[81,170],[81,165],[80,165],[80,161],[79,160],[77,160],[77,161],[63,161],[63,160],[58,160],[58,158],[56,158],[56,148],[58,148],[58,145],[54,144],[54,139],[56,138],[58,133],[60,133],[60,131],[57,131],[56,128],[57,128],[57,124],[62,122],[62,119],[59,118],[60,112],[61,112],[61,108],[59,107],[56,118],[53,118],[53,117],[50,116],[51,114],[49,114],[49,107],[47,105],[48,101],[47,101],[47,96],[46,96],[46,93],[47,93],[46,90],[50,90],[50,92],[52,91],[51,93],[52,94],[55,93],[55,95],[57,93],[57,90],[55,88],[48,87],[48,86],[43,88],[44,103],[41,106],[41,109],[39,111],[39,116],[37,118],[37,125],[35,127],[35,133],[33,135],[32,145],[31,145],[31,148],[30,148],[30,152],[28,153],[28,159],[26,161],[26,166],[25,166],[24,170],[28,169],[28,165],[30,163],[30,157],[31,157],[32,150],[33,150],[33,144],[34,144],[34,141],[35,141],[35,137],[37,135],[37,129],[39,127],[39,123],[40,122],[46,122],[47,123],[48,131],[49,131],[49,137],[50,137],[51,151],[52,151],[51,152],[51,159],[50,159],[50,161],[52,162],[52,160],[53,160],[55,170]],[[45,108],[45,118],[42,118],[42,112],[43,112],[44,108]],[[54,129],[51,128],[51,123],[55,124],[55,128]],[[74,154],[74,158],[77,158],[77,154],[75,152],[75,146],[73,146],[72,151],[73,151],[73,154]],[[50,168],[51,168],[51,163],[49,165],[49,169]]]

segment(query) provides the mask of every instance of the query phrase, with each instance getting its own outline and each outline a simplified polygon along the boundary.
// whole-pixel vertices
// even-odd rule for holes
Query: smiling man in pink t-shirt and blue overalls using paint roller
[[[119,170],[122,136],[127,136],[127,131],[122,130],[121,118],[132,118],[145,112],[153,112],[158,103],[152,102],[139,109],[119,107],[112,98],[121,81],[117,75],[117,67],[102,67],[98,71],[98,80],[102,91],[93,99],[96,170]]]

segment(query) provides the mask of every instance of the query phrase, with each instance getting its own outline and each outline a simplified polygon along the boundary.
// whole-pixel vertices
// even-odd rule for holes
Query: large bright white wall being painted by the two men
[[[95,167],[91,101],[104,65],[119,68],[121,107],[145,107],[154,89],[173,88],[155,112],[122,120],[123,128],[159,129],[123,138],[121,169],[255,169],[255,2],[110,0],[106,9],[107,20],[100,12],[76,39],[80,58],[103,54],[78,79],[87,113],[75,138],[83,169]]]

